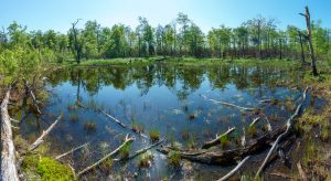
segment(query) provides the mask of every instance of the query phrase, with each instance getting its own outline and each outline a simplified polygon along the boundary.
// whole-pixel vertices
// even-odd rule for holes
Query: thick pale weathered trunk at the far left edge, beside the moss
[[[12,141],[12,130],[10,116],[8,114],[8,103],[11,86],[9,86],[1,103],[1,178],[3,181],[19,181],[15,167],[15,147]]]

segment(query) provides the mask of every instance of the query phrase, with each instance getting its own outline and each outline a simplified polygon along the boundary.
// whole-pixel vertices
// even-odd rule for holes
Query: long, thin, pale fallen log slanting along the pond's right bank
[[[271,157],[273,152],[274,152],[274,151],[276,150],[276,148],[278,147],[279,141],[281,141],[281,139],[286,138],[286,137],[290,134],[290,130],[292,129],[292,126],[293,126],[293,121],[295,121],[295,119],[299,116],[299,113],[300,113],[300,110],[301,110],[302,104],[303,104],[305,100],[306,100],[308,89],[309,89],[308,87],[305,89],[302,102],[298,105],[298,107],[297,107],[295,114],[287,120],[287,123],[286,123],[286,130],[285,130],[282,134],[280,134],[280,135],[277,137],[276,141],[273,143],[273,147],[271,147],[271,149],[269,150],[267,157],[265,158],[263,164],[261,164],[261,166],[259,167],[259,169],[257,170],[256,175],[255,175],[255,179],[257,179],[257,178],[260,175],[260,173],[263,172],[263,170],[264,170],[265,166],[267,164],[269,158]]]

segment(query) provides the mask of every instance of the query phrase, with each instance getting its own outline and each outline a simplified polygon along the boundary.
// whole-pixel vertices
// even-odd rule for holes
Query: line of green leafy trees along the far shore
[[[136,29],[125,24],[102,26],[97,21],[87,21],[79,29],[79,23],[83,22],[76,20],[67,33],[60,33],[54,30],[28,32],[26,26],[13,22],[2,28],[0,50],[34,52],[42,61],[50,62],[73,57],[77,63],[89,58],[150,56],[276,57],[305,62],[309,50],[306,30],[295,25],[280,30],[276,19],[261,15],[237,28],[213,28],[206,34],[184,13],[157,28],[141,17]],[[312,21],[312,45],[319,60],[330,57],[330,32],[321,26],[321,21]]]

